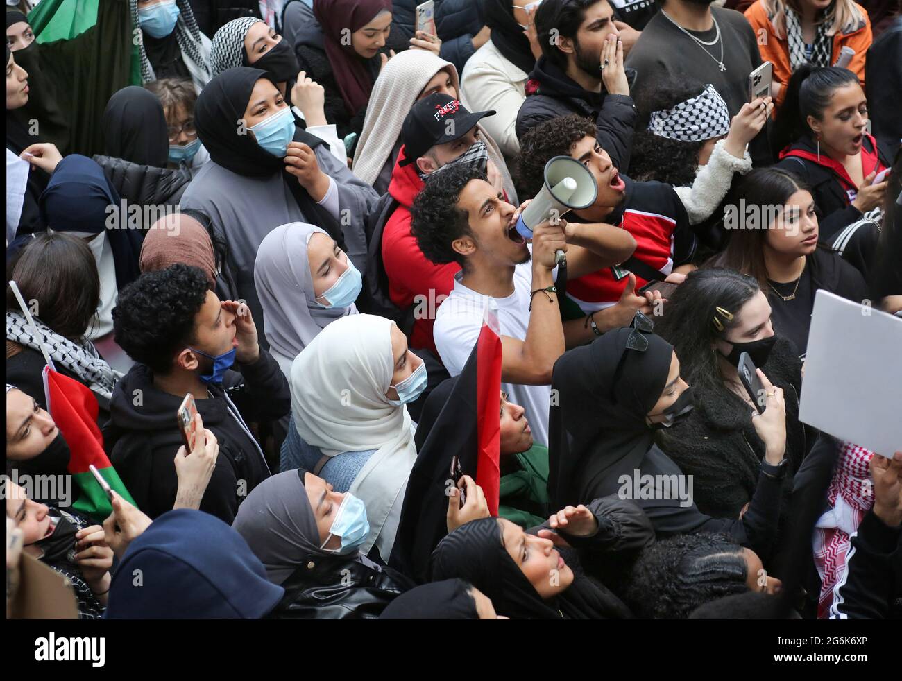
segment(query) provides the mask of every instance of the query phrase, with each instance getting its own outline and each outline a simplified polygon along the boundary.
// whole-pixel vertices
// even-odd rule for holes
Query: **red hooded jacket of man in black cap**
[[[400,148],[398,161],[405,158]],[[454,275],[460,265],[449,262],[437,265],[429,261],[419,250],[417,240],[410,234],[410,206],[413,198],[423,189],[417,166],[413,163],[400,166],[395,163],[391,171],[389,194],[398,201],[382,232],[382,262],[389,278],[389,297],[401,309],[414,308],[411,348],[426,348],[438,356],[432,339],[432,326],[442,300],[454,288]]]

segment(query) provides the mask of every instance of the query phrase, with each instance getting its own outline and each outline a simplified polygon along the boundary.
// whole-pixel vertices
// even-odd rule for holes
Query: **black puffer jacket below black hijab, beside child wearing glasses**
[[[113,156],[94,156],[94,161],[129,206],[178,206],[191,181],[190,170],[139,165]]]

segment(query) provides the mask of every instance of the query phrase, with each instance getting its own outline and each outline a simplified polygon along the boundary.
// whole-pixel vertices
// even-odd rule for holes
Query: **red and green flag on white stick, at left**
[[[103,522],[113,512],[113,507],[94,475],[87,470],[88,465],[95,465],[124,500],[134,501],[104,451],[104,438],[97,428],[97,398],[86,385],[55,372],[50,366],[44,367],[43,380],[47,410],[69,445],[69,474],[81,491],[72,508],[98,523]]]

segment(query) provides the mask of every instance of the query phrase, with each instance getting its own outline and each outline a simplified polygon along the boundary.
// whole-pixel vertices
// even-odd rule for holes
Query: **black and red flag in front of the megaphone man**
[[[501,387],[501,333],[497,308],[490,300],[463,371],[429,395],[418,424],[417,461],[410,471],[389,565],[420,583],[428,581],[429,557],[447,534],[447,490],[454,484],[455,457],[462,474],[483,488],[492,517],[498,515]]]

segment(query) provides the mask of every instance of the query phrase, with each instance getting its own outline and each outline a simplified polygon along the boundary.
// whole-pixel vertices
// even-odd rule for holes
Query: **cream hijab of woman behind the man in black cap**
[[[388,61],[373,84],[370,103],[366,106],[364,131],[360,133],[360,142],[357,143],[351,166],[354,175],[371,185],[379,178],[385,161],[389,160],[399,141],[404,119],[417,101],[419,93],[440,70],[447,71],[451,76],[451,83],[459,97],[460,79],[457,78],[455,65],[450,61],[425,50],[405,50]],[[477,124],[476,128],[488,149],[489,158],[502,173],[508,198],[516,204],[517,192],[498,144],[482,125]]]

